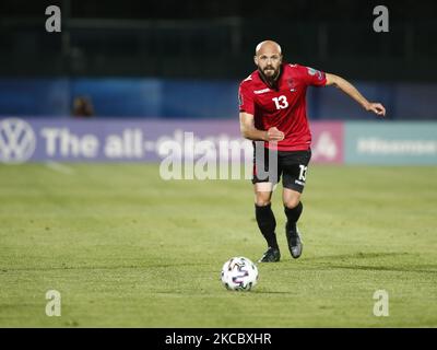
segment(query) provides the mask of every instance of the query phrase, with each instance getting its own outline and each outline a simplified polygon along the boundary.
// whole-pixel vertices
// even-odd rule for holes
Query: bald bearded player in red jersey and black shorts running
[[[380,103],[368,102],[341,77],[283,62],[281,47],[275,42],[260,43],[253,59],[258,69],[239,85],[239,119],[243,137],[264,141],[263,152],[259,152],[256,147],[253,150],[252,184],[257,223],[268,244],[259,261],[271,262],[281,259],[276,221],[271,209],[272,191],[281,176],[288,249],[293,258],[298,258],[303,250],[296,223],[303,211],[300,196],[311,158],[311,133],[305,98],[307,88],[336,86],[363,108],[378,116],[385,116],[386,108]],[[271,155],[268,149],[272,150]],[[275,168],[269,168],[269,163]],[[264,167],[258,168],[259,164],[264,164]],[[259,176],[265,172],[269,176]]]

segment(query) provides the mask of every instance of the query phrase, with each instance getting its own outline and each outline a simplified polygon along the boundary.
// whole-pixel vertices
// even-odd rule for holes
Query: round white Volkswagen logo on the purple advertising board
[[[35,152],[35,132],[28,122],[8,118],[0,120],[0,162],[23,163]]]

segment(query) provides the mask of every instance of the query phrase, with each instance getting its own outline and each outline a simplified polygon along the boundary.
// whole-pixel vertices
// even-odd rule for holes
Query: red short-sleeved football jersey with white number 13
[[[279,151],[303,151],[311,145],[306,106],[307,86],[324,86],[326,74],[299,65],[283,63],[275,88],[269,86],[258,70],[239,85],[239,110],[253,115],[255,127],[284,132]],[[269,147],[269,142],[265,142]]]

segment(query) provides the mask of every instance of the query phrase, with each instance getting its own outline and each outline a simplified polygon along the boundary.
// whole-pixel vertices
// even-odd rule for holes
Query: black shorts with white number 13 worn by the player
[[[272,151],[264,149],[263,153],[264,161],[262,162],[262,154],[260,154],[257,162],[257,148],[253,147],[252,184],[272,183],[275,185],[280,182],[282,176],[282,186],[284,188],[290,188],[302,194],[305,187],[308,163],[311,159],[311,150]],[[274,172],[273,167],[275,161],[272,160],[271,156],[277,156],[276,172]],[[260,172],[259,170],[262,170],[262,165],[264,171]]]

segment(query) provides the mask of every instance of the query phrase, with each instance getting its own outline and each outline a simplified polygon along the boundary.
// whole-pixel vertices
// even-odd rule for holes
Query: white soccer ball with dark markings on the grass
[[[250,291],[258,281],[257,266],[243,256],[227,260],[222,268],[222,283],[233,291]]]

